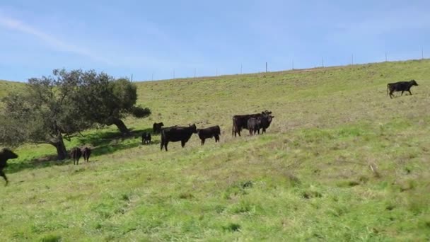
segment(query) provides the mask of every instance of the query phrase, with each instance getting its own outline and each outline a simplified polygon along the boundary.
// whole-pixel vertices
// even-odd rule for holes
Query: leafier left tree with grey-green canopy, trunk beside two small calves
[[[52,144],[62,160],[68,156],[64,138],[91,127],[91,120],[80,115],[76,103],[82,71],[54,70],[53,74],[29,79],[24,92],[4,98],[0,144]]]

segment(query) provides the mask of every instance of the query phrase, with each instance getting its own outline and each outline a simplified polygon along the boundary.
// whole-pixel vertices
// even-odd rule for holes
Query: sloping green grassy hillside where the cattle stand
[[[138,83],[153,110],[136,131],[93,130],[90,163],[23,146],[0,188],[0,236],[23,240],[368,241],[430,239],[430,61]],[[386,83],[415,79],[390,99]],[[1,82],[0,82],[1,83]],[[0,93],[1,94],[1,93]],[[397,93],[400,96],[400,93]],[[231,137],[231,117],[272,110],[267,134]],[[153,122],[221,126],[184,149]]]

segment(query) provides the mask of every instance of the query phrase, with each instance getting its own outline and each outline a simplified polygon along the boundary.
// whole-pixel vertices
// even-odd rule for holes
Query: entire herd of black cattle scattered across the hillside
[[[410,88],[412,86],[418,86],[417,81],[399,81],[396,83],[388,83],[387,84],[387,95],[390,95],[390,98],[393,98],[393,93],[395,91],[401,91],[402,95],[405,91],[409,92],[412,95]],[[401,95],[401,96],[402,96]],[[240,136],[240,132],[242,129],[248,129],[250,135],[255,133],[260,134],[260,129],[262,133],[266,132],[266,129],[270,126],[272,119],[274,116],[271,115],[270,111],[263,111],[262,113],[255,113],[250,115],[234,115],[233,116],[233,128],[231,130],[231,135],[236,137],[236,134]],[[163,147],[165,151],[167,151],[167,146],[169,142],[181,142],[182,148],[188,142],[192,134],[197,134],[202,141],[202,145],[204,144],[205,139],[215,138],[215,142],[219,142],[219,136],[221,135],[221,129],[218,125],[207,127],[204,129],[197,129],[196,125],[189,125],[188,127],[182,126],[172,126],[172,127],[164,127],[163,122],[154,123],[153,124],[153,133],[159,134],[161,133],[161,150]],[[144,132],[142,134],[142,144],[150,144],[151,143],[151,134],[148,132]],[[88,162],[91,155],[91,148],[89,147],[75,147],[71,149],[70,156],[74,160],[74,164],[79,164],[79,159],[83,156],[84,161]],[[10,149],[1,149],[0,150],[0,176],[6,180],[6,185],[8,184],[8,178],[6,178],[6,174],[4,173],[4,168],[6,168],[8,159],[16,159],[18,155],[13,153]]]

